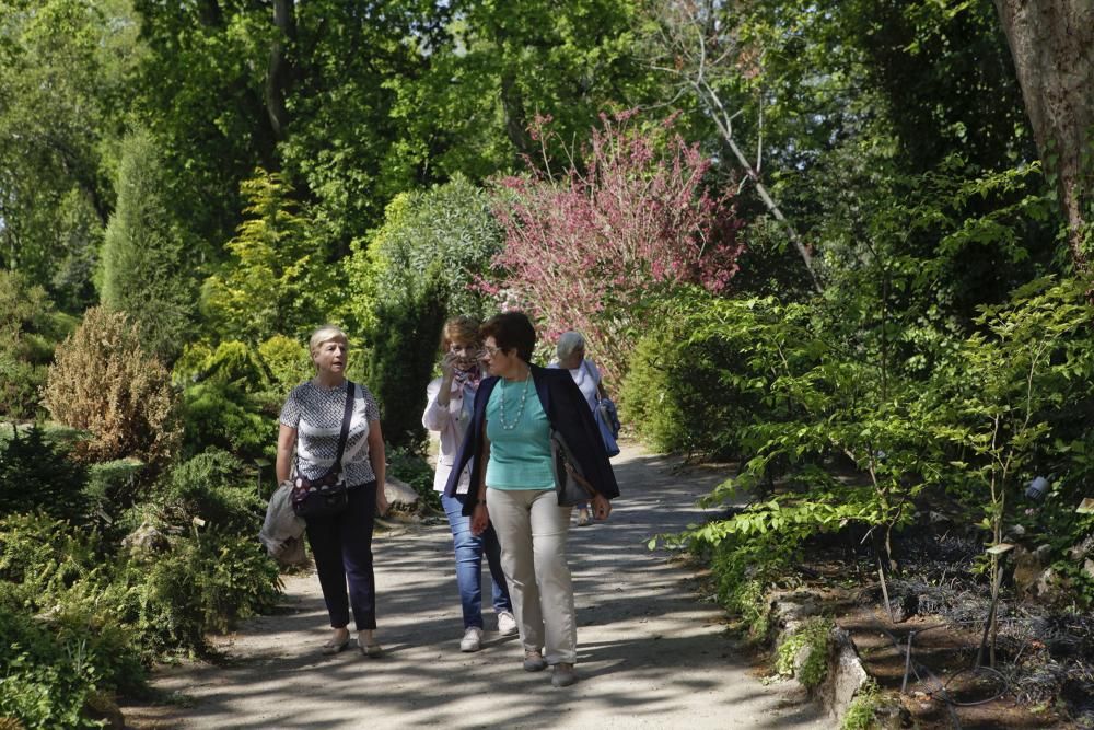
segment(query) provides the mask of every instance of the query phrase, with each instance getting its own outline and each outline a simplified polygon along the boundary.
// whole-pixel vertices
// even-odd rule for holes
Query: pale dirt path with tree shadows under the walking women
[[[792,683],[765,685],[725,636],[691,572],[648,538],[698,522],[695,499],[724,477],[673,474],[628,448],[614,460],[622,498],[606,524],[574,528],[578,671],[565,690],[521,669],[516,637],[487,617],[482,651],[461,653],[447,524],[377,534],[377,638],[387,656],[323,657],[326,612],[312,575],[286,581],[278,613],[218,640],[219,665],[184,664],[153,684],[190,698],[124,708],[137,728],[828,728]],[[352,647],[353,645],[351,645]]]

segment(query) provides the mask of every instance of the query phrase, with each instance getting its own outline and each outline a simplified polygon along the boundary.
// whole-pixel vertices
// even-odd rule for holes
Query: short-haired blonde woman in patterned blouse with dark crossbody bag
[[[338,453],[349,381],[346,380],[346,333],[338,327],[316,329],[310,340],[315,378],[298,385],[281,409],[277,444],[277,478],[284,482],[293,471],[309,479],[322,477]],[[372,569],[372,526],[375,515],[387,511],[384,484],[384,437],[380,430],[380,408],[364,385],[354,383],[349,437],[342,451],[341,474],[349,505],[346,510],[324,518],[309,518],[307,543],[330,615],[334,635],[324,653],[337,653],[349,646],[349,609],[353,609],[357,640],[366,657],[383,650],[376,628],[376,582]],[[346,583],[349,579],[349,596]]]

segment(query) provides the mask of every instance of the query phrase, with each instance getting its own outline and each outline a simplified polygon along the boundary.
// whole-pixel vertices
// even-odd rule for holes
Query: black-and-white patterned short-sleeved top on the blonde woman
[[[354,385],[353,415],[342,452],[342,476],[351,487],[376,478],[369,462],[369,424],[380,420],[376,398],[364,385]],[[345,413],[346,382],[327,389],[307,381],[289,393],[281,422],[296,429],[296,459],[305,478],[317,479],[334,464]]]

